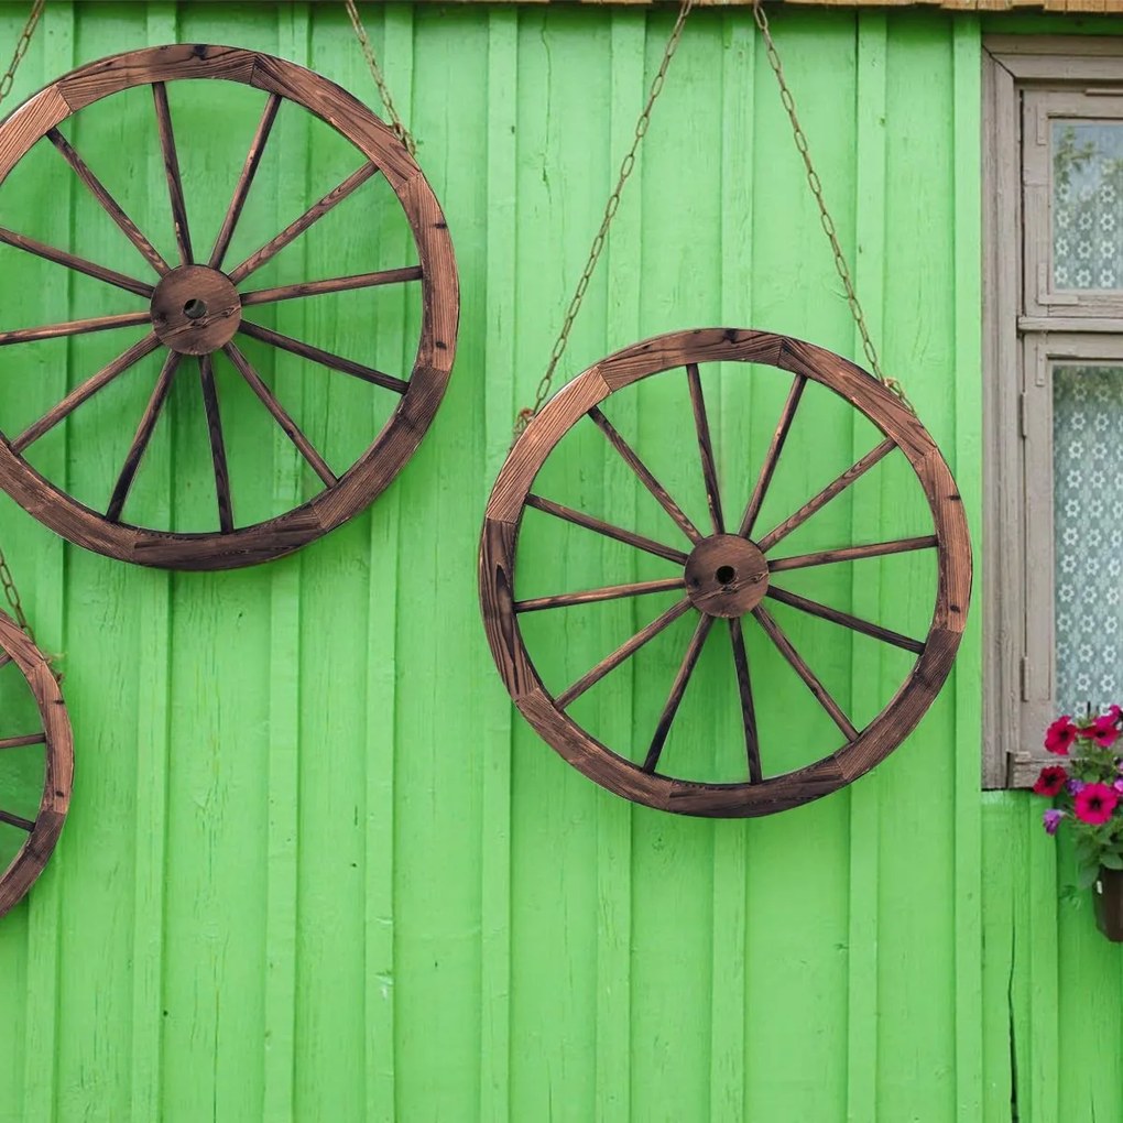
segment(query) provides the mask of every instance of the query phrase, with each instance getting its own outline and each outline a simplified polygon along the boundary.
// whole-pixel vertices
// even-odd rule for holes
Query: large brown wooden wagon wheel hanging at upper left
[[[217,243],[198,256],[188,223],[179,156],[168,112],[166,83],[184,79],[222,79],[255,86],[265,94],[254,136]],[[168,264],[113,200],[104,185],[58,130],[72,113],[122,90],[150,85],[154,100],[153,139],[158,137],[179,262]],[[283,100],[319,117],[362,153],[363,162],[335,190],[245,261],[225,264],[227,249],[249,193],[254,175]],[[179,44],[115,55],[61,77],[12,112],[0,125],[0,183],[40,138],[53,144],[121,231],[136,246],[155,277],[126,276],[66,250],[0,228],[0,240],[67,268],[97,277],[148,301],[143,311],[97,319],[17,328],[0,332],[0,345],[29,343],[135,325],[139,338],[124,354],[92,374],[34,424],[0,441],[0,486],[53,530],[109,557],[141,565],[181,569],[221,569],[264,562],[294,550],[339,526],[368,505],[413,454],[448,382],[456,345],[458,292],[448,230],[429,184],[394,134],[371,110],[335,83],[259,52],[234,47]],[[381,174],[393,189],[409,220],[418,264],[354,276],[313,280],[253,291],[254,273],[308,230],[353,191]],[[247,283],[249,282],[249,283]],[[383,373],[350,359],[255,325],[245,318],[253,305],[386,284],[418,283],[422,290],[422,323],[417,359],[408,378]],[[237,335],[301,356],[372,384],[374,393],[400,396],[389,421],[369,448],[343,475],[336,476],[235,343]],[[45,480],[24,458],[26,449],[145,356],[166,350],[166,359],[136,436],[125,457],[106,511],[77,502]],[[323,483],[309,502],[253,526],[237,526],[222,438],[222,417],[214,387],[213,357],[221,350],[276,423]],[[177,372],[198,363],[213,460],[219,530],[176,533],[121,521],[121,510],[137,468],[167,400]],[[229,423],[229,419],[226,419]]]

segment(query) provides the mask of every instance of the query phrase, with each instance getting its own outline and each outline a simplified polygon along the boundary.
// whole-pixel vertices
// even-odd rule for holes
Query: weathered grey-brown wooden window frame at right
[[[1123,293],[1052,290],[1037,141],[1051,109],[1123,117],[1123,39],[990,36],[983,46],[983,786],[1004,788],[1032,785],[1053,716],[1052,367],[1123,364]],[[1034,150],[1023,144],[1030,129]]]

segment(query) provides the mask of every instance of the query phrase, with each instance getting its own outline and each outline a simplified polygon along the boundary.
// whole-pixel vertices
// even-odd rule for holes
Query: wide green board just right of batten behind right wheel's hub
[[[853,237],[853,204],[848,202],[855,191],[853,20],[851,12],[813,15],[784,8],[772,21],[844,245],[850,245]],[[852,322],[844,301],[838,296],[830,248],[763,45],[758,45],[755,77],[754,326],[847,350]],[[757,417],[750,420],[756,422],[751,435],[757,464],[786,390],[778,381],[772,384],[764,377],[754,387]],[[820,405],[809,398],[801,405],[796,423],[814,424],[823,417],[815,413]],[[827,420],[830,428],[822,432],[819,455],[844,459],[850,450],[849,429],[838,429],[837,419],[829,414]],[[789,453],[785,456],[789,457]],[[816,465],[782,460],[782,468],[793,466],[798,471],[788,476],[788,510],[815,491],[812,480],[801,476]],[[801,484],[805,490],[794,494]],[[774,485],[774,494],[779,494],[775,491],[778,486],[780,482]],[[823,512],[819,518],[824,517],[829,520],[828,532],[832,526],[838,526],[839,533],[846,532],[840,524],[844,518],[848,521],[846,508]],[[830,521],[834,519],[839,523]],[[822,532],[821,528],[815,532]],[[846,581],[846,575],[842,578]],[[747,629],[750,659],[751,646],[760,638],[755,623]],[[848,647],[833,637],[830,640],[829,651],[820,655],[816,666],[822,670],[825,660],[833,660],[848,678]],[[798,637],[794,641],[798,643]],[[787,686],[775,651],[766,647],[758,650],[754,664],[760,667],[763,685],[758,690],[780,695],[792,714],[805,714],[809,700],[802,683]],[[776,770],[783,745],[775,739],[784,732],[773,728],[772,745],[761,743],[766,774]],[[751,830],[751,849],[746,1116],[782,1119],[788,1114],[824,1123],[840,1120],[844,1117],[847,1096],[848,796],[832,795],[747,825]],[[778,962],[798,962],[801,969],[777,971]]]

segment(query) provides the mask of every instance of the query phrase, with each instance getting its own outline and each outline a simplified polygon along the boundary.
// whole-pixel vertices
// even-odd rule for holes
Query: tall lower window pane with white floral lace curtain
[[[1121,427],[1123,367],[1053,367],[1058,713],[1123,703]]]

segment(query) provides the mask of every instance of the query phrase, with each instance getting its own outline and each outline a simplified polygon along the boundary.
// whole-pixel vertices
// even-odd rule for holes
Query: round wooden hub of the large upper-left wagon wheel
[[[161,343],[181,355],[209,355],[232,338],[241,300],[229,279],[206,265],[181,265],[152,295],[152,326]]]

